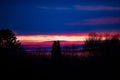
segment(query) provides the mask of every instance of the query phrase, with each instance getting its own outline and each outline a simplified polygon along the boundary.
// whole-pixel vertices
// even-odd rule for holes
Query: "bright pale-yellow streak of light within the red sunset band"
[[[17,36],[23,42],[44,42],[44,41],[85,41],[87,36],[65,36],[65,35],[23,35]]]

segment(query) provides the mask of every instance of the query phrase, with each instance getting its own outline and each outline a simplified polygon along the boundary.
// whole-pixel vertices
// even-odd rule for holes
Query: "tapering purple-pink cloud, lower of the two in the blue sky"
[[[79,25],[103,25],[103,24],[120,24],[120,17],[87,19],[78,22],[66,23],[65,25],[79,26]]]

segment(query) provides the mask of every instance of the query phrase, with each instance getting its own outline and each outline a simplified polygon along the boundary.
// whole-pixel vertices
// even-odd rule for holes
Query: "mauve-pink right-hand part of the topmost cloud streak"
[[[76,10],[120,10],[120,7],[113,6],[74,6]]]

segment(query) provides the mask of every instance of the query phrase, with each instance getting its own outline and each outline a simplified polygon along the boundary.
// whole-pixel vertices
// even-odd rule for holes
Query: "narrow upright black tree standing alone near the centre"
[[[60,42],[54,41],[52,45],[52,60],[59,61],[61,59]]]

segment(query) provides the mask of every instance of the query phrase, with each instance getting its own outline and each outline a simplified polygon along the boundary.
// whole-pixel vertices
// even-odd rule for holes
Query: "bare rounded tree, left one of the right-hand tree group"
[[[95,32],[89,34],[89,38],[85,41],[84,50],[91,55],[100,55],[101,38]]]

